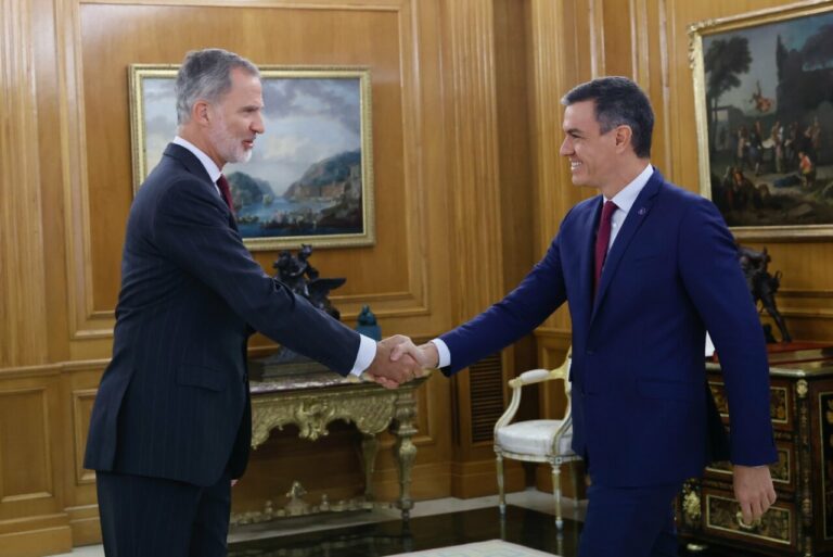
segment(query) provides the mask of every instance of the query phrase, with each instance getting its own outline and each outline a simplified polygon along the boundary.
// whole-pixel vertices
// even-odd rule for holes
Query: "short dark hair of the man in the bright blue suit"
[[[629,126],[631,144],[640,159],[651,156],[654,111],[648,96],[627,77],[600,77],[574,87],[561,99],[565,106],[581,101],[595,102],[595,119],[606,134],[616,126]]]

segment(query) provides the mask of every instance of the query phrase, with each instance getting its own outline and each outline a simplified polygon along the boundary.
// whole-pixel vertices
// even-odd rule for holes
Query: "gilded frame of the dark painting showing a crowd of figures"
[[[703,40],[706,37],[743,35],[744,31],[796,20],[799,17],[824,15],[833,11],[833,0],[808,0],[783,7],[745,13],[742,15],[706,20],[688,27],[689,62],[694,83],[694,109],[697,132],[697,153],[700,170],[700,191],[713,199],[713,167],[710,157],[709,115],[706,101],[706,74]],[[774,72],[774,68],[772,68]],[[758,97],[761,96],[758,87]],[[754,92],[753,92],[754,98]],[[752,102],[752,101],[751,101]],[[722,107],[721,107],[722,109]],[[727,126],[728,128],[729,126]],[[767,132],[770,130],[767,129]],[[830,131],[828,130],[828,135]],[[731,135],[731,132],[730,132]],[[774,156],[774,155],[773,155]],[[718,163],[715,164],[717,166]],[[772,163],[774,164],[774,163]],[[728,170],[727,170],[728,173]],[[720,174],[717,174],[720,176]],[[800,175],[797,175],[800,177]],[[726,213],[725,213],[726,215]],[[728,219],[729,220],[729,219]],[[739,239],[802,240],[833,237],[833,220],[824,224],[790,224],[767,226],[736,226],[729,221],[732,232]]]

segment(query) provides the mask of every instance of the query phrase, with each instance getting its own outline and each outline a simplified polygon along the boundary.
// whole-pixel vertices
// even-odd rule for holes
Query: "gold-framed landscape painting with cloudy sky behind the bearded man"
[[[248,163],[223,168],[246,248],[373,245],[370,69],[258,68],[266,132]],[[176,135],[178,69],[129,66],[133,193]]]

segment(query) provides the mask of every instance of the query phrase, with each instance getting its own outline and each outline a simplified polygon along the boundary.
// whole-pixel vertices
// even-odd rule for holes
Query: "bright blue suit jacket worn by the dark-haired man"
[[[769,367],[733,238],[712,202],[654,170],[592,292],[601,195],[574,206],[547,255],[501,302],[441,336],[453,374],[527,334],[565,301],[573,321],[573,448],[607,485],[672,483],[714,451],[708,329],[731,408],[731,459],[776,460]],[[714,431],[714,429],[712,429]]]

